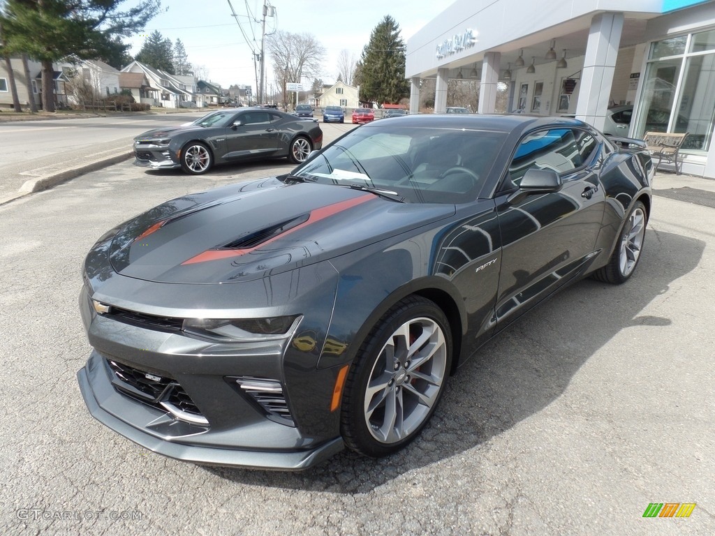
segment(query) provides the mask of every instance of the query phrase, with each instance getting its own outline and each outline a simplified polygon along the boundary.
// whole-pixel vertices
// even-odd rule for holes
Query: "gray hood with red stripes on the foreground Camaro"
[[[454,214],[345,187],[278,179],[173,199],[95,245],[114,272],[153,282],[210,284],[265,277],[330,259]],[[92,264],[88,257],[88,265]]]

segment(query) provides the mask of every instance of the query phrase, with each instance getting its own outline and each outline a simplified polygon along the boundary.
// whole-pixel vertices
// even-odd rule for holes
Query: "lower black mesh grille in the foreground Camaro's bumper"
[[[189,394],[175,379],[144,372],[114,359],[107,359],[107,364],[114,372],[112,384],[122,394],[167,411],[177,419],[199,425],[209,424]]]

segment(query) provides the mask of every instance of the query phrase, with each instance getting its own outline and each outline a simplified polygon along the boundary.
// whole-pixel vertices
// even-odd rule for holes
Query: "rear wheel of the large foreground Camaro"
[[[599,281],[621,284],[628,280],[641,259],[643,242],[646,237],[648,214],[646,207],[640,201],[633,203],[626,223],[623,224],[616,249],[611,254],[608,264],[593,272],[593,278]]]

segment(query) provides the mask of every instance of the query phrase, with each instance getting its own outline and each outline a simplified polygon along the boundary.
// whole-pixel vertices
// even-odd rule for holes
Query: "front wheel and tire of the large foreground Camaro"
[[[395,304],[358,350],[342,400],[345,445],[385,456],[414,440],[432,417],[452,361],[449,322],[412,296]]]

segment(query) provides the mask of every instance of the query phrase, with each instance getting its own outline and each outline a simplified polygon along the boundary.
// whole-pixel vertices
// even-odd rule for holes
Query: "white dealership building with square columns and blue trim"
[[[438,113],[473,79],[481,114],[507,91],[509,111],[687,132],[682,171],[715,179],[714,0],[457,0],[408,40],[405,75],[413,113],[422,79]]]

